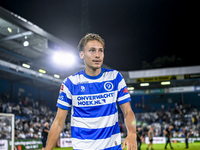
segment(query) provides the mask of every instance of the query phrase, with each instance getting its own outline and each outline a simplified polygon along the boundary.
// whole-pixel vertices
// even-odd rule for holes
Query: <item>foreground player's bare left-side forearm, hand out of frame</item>
[[[68,110],[64,110],[61,108],[58,108],[57,115],[53,121],[53,124],[51,126],[51,129],[49,131],[47,144],[45,150],[52,150],[58,141],[58,138],[60,136],[60,132],[62,131],[64,124],[65,124],[65,118],[67,117]]]

